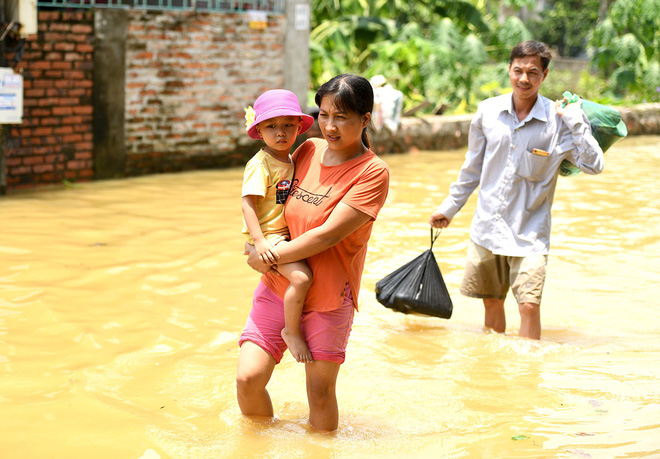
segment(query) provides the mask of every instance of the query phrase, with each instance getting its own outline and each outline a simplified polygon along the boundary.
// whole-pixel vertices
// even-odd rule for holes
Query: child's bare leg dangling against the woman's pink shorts
[[[277,270],[290,284],[284,292],[284,328],[282,339],[289,347],[291,355],[302,363],[312,361],[312,353],[300,332],[300,316],[305,296],[312,284],[312,271],[304,261],[278,265]]]

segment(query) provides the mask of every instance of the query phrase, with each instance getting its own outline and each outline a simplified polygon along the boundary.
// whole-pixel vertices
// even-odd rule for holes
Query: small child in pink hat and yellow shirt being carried
[[[284,203],[294,172],[289,153],[296,137],[312,126],[314,118],[304,114],[296,95],[284,89],[260,95],[254,109],[246,109],[245,118],[248,135],[263,139],[266,146],[245,166],[243,233],[264,263],[277,263],[275,246],[289,238],[284,220]],[[312,271],[304,260],[273,267],[290,282],[284,293],[282,338],[298,362],[311,362],[312,354],[300,332],[300,316],[312,284]]]

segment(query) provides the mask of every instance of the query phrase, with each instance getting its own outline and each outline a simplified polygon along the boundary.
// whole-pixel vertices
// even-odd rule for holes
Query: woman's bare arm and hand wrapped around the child
[[[291,263],[321,253],[337,245],[348,235],[371,220],[371,217],[340,202],[321,226],[313,228],[288,243],[277,245],[278,263]],[[259,272],[268,265],[261,262],[254,250],[248,251],[248,264]]]

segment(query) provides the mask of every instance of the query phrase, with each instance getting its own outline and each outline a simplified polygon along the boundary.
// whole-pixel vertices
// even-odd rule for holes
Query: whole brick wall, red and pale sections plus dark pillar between
[[[259,145],[244,108],[286,87],[285,65],[300,73],[288,27],[283,14],[252,28],[241,13],[40,11],[7,188],[243,164]]]

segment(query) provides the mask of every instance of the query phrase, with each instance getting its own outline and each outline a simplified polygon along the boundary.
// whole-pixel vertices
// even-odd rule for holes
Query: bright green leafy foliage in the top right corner
[[[660,0],[616,1],[590,44],[614,97],[660,100]]]

